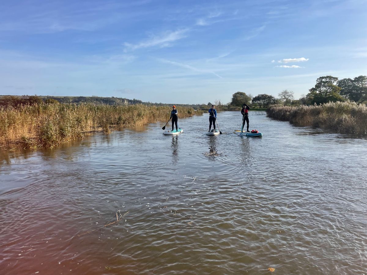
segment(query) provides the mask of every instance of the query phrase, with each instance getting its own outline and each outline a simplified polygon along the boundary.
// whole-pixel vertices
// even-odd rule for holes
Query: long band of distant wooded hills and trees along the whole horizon
[[[244,92],[236,92],[232,95],[231,102],[222,104],[220,100],[215,100],[213,104],[218,110],[240,110],[243,103],[253,108],[268,108],[270,105],[311,105],[322,104],[327,102],[344,102],[345,100],[357,103],[367,103],[367,76],[358,76],[355,78],[321,76],[316,79],[314,87],[309,89],[308,94],[303,94],[299,99],[294,99],[294,92],[287,89],[278,94],[278,98],[268,94],[259,94],[252,96]],[[107,105],[131,105],[145,104],[148,106],[169,106],[172,104],[178,106],[192,107],[193,109],[207,109],[211,106],[211,102],[207,104],[167,104],[142,102],[138,99],[116,98],[116,97],[99,97],[99,96],[0,96],[0,107],[17,107],[21,105],[34,104],[58,104],[58,103],[75,103],[75,104],[107,104]]]

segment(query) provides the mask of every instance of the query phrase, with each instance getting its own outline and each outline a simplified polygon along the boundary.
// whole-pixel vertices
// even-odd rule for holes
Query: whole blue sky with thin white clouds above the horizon
[[[367,0],[4,3],[2,95],[228,103],[367,75]]]

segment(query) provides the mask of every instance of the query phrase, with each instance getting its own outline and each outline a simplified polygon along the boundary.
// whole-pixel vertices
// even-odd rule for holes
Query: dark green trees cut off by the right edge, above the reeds
[[[343,78],[338,81],[341,88],[340,94],[355,102],[367,100],[367,76],[358,76],[354,79]]]

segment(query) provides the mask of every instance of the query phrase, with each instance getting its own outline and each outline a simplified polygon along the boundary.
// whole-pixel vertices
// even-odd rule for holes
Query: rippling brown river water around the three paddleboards
[[[367,274],[367,140],[240,120],[2,151],[0,274]]]

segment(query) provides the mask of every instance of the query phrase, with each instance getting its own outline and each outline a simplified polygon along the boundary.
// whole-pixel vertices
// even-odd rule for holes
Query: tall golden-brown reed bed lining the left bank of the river
[[[201,111],[180,107],[179,117]],[[39,104],[0,109],[0,144],[21,147],[54,147],[69,140],[83,138],[87,132],[109,133],[115,128],[167,121],[167,106],[128,106]]]

